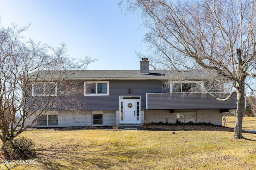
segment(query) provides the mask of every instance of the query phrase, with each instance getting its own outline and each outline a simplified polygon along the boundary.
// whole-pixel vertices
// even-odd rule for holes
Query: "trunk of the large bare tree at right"
[[[241,82],[240,88],[237,90],[237,109],[236,109],[236,122],[234,129],[233,139],[242,139],[242,122],[244,116],[244,82]]]

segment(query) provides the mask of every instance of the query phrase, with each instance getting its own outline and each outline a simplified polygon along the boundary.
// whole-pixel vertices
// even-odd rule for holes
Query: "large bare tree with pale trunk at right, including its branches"
[[[256,76],[256,0],[122,0],[119,6],[138,12],[149,29],[149,51],[167,68],[215,70],[231,83],[230,95],[216,98],[236,94],[234,139],[243,138],[245,89],[254,90]]]

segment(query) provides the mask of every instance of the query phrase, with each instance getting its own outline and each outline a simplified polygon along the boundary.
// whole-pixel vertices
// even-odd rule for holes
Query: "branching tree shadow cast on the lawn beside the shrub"
[[[126,150],[112,150],[113,143],[97,145],[66,145],[57,143],[49,147],[36,149],[37,161],[40,169],[47,170],[75,170],[75,169],[111,169],[124,166],[126,161],[146,159],[160,154],[156,149],[134,149],[128,146]]]

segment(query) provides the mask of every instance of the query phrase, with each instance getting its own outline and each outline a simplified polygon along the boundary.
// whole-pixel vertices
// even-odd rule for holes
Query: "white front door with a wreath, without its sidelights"
[[[124,122],[135,123],[136,121],[136,100],[124,101]]]

